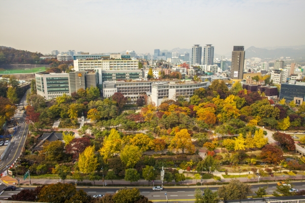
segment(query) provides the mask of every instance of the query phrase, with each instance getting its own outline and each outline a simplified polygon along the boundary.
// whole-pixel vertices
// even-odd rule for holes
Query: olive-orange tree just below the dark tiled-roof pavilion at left
[[[56,141],[45,141],[43,144],[41,156],[47,161],[59,161],[63,157],[64,143],[60,140]]]

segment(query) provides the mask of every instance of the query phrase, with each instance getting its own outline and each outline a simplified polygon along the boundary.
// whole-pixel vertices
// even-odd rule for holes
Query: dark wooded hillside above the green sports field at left
[[[0,46],[0,64],[36,64],[43,54]]]

